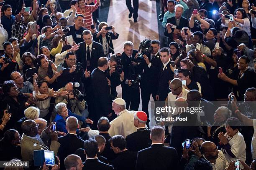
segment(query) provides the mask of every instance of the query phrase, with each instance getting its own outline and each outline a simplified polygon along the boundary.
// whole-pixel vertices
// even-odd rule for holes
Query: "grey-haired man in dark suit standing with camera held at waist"
[[[137,50],[133,50],[131,41],[124,42],[123,53],[121,55],[121,65],[123,65],[124,80],[122,81],[122,98],[125,100],[126,109],[138,110],[140,105],[140,89],[138,87],[140,75],[136,62]]]

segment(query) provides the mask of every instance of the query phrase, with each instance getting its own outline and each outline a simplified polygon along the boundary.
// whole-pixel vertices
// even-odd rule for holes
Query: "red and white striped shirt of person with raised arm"
[[[99,4],[97,3],[95,5],[85,5],[85,8],[83,11],[78,7],[77,14],[84,15],[84,20],[85,20],[85,23],[87,24],[87,26],[84,26],[85,28],[90,30],[91,25],[93,24],[92,13],[95,10],[97,10],[98,7],[99,7]]]

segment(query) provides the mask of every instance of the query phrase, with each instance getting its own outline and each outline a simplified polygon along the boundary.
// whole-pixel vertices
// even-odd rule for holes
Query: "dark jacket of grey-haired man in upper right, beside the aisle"
[[[177,26],[176,29],[178,29],[178,30],[181,30],[183,27],[188,27],[188,20],[187,20],[186,18],[184,18],[184,17],[181,17],[181,18],[180,18],[179,26],[178,26],[177,23],[176,23],[175,17],[168,18],[166,24],[167,24],[167,23],[171,23],[171,24],[173,24],[173,25],[176,25],[176,26]],[[174,29],[172,28],[172,32],[171,32],[171,33],[168,33],[168,32],[167,32],[167,28],[165,27],[165,29],[164,29],[164,35],[165,35],[166,37],[169,37],[171,40],[173,40],[173,31],[174,31]]]

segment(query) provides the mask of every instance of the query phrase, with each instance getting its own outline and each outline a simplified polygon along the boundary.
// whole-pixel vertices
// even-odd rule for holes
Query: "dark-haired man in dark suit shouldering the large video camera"
[[[162,62],[160,59],[160,42],[159,40],[151,41],[152,51],[149,56],[144,55],[145,62],[141,63],[139,66],[142,68],[141,75],[141,100],[142,100],[142,111],[146,112],[148,118],[148,102],[150,100],[150,95],[154,100],[156,100],[156,92],[158,87],[158,76],[161,70]],[[147,121],[147,126],[149,123]]]

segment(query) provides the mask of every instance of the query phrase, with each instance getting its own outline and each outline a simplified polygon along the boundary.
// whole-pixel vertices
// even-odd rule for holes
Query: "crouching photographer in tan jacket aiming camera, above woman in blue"
[[[71,112],[81,115],[80,111],[83,111],[86,105],[82,93],[77,90],[76,86],[78,85],[78,82],[69,82],[65,87],[59,89],[58,92],[67,91],[69,93],[67,95],[57,97],[55,103],[64,102]]]

